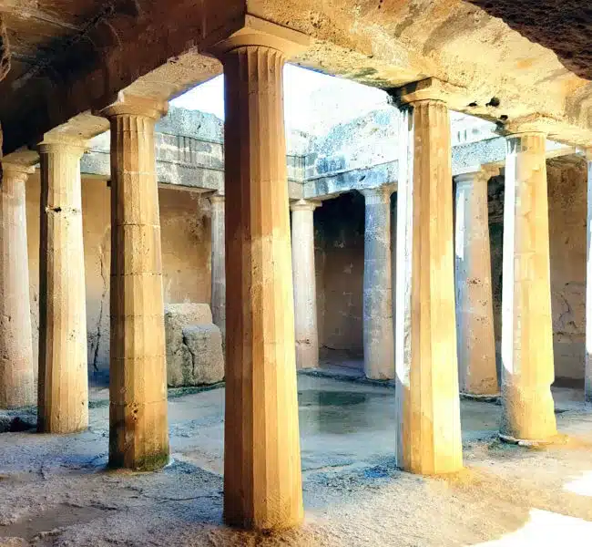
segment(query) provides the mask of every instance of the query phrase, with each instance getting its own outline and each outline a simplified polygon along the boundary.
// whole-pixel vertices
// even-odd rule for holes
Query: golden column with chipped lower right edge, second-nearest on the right
[[[500,437],[509,441],[556,435],[545,143],[534,131],[506,142]]]

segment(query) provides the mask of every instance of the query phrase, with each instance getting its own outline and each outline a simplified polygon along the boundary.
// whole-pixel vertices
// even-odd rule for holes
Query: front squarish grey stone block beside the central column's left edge
[[[184,386],[216,384],[224,379],[222,335],[217,325],[192,325],[183,329],[189,366],[182,370]]]

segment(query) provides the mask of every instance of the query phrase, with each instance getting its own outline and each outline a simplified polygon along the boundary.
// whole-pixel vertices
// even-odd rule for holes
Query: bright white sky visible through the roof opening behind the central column
[[[172,101],[176,107],[210,112],[224,119],[224,77],[215,77]],[[318,133],[386,104],[386,94],[343,78],[293,65],[284,69],[286,124]]]

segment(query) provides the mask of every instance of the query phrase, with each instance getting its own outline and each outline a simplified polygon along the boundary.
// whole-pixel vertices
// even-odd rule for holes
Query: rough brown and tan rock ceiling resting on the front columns
[[[311,36],[311,49],[293,59],[303,66],[381,88],[438,77],[462,90],[454,109],[497,121],[546,119],[552,138],[589,144],[592,54],[582,4],[0,0],[13,51],[13,68],[0,83],[5,151],[56,126],[97,134],[107,124],[91,111],[122,89],[166,99],[219,74],[219,62],[200,55],[199,46],[247,11]]]

